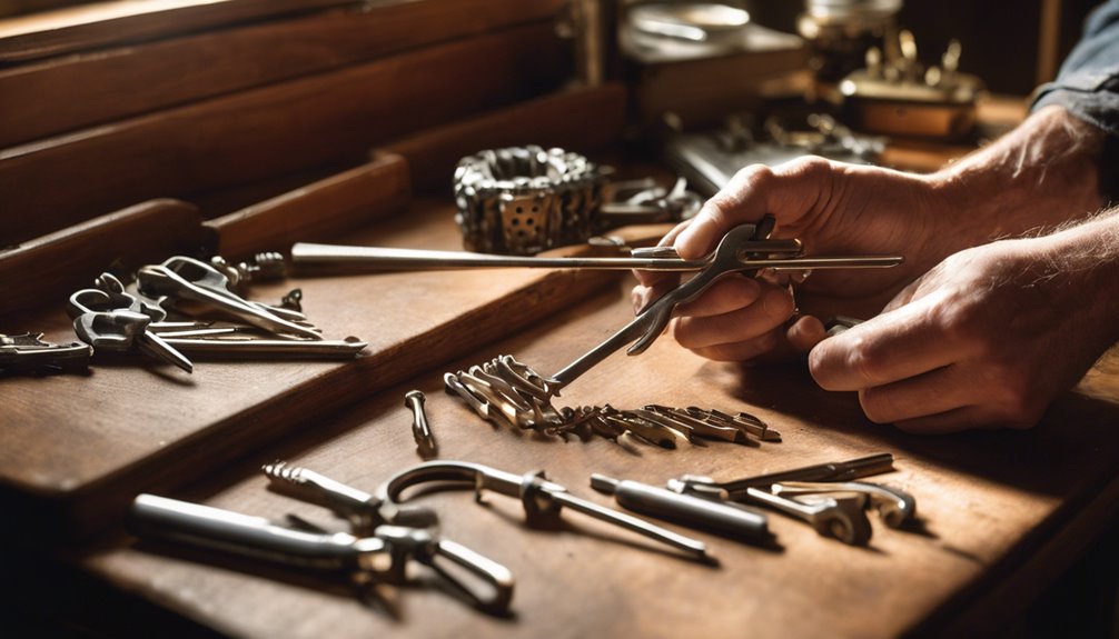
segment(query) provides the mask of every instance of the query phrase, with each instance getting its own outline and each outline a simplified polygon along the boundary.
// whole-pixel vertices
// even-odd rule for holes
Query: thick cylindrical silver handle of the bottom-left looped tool
[[[141,536],[319,570],[358,569],[363,555],[386,551],[374,537],[295,531],[264,517],[147,494],[132,503],[129,527]]]

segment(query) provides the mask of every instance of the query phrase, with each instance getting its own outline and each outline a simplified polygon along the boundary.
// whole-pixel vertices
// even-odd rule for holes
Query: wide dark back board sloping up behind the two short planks
[[[384,141],[554,88],[567,58],[551,25],[532,25],[2,150],[0,244],[139,200],[357,164]]]

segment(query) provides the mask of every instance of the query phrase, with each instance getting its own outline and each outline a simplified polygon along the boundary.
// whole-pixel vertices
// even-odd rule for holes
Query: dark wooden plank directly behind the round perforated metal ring
[[[574,88],[385,144],[407,158],[416,191],[449,191],[459,160],[482,149],[538,144],[577,153],[617,145],[626,125],[626,87]]]

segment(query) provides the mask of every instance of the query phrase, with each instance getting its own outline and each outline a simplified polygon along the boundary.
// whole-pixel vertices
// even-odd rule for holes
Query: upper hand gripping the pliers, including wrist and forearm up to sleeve
[[[1097,211],[1103,137],[1063,108],[1046,107],[931,175],[819,158],[774,169],[747,166],[661,244],[681,257],[700,257],[732,227],[772,213],[773,237],[799,238],[810,254],[896,254],[905,264],[816,273],[797,287],[796,303],[786,287],[728,276],[681,306],[669,331],[685,347],[714,360],[807,352],[825,337],[817,316],[868,317],[958,250]],[[662,274],[637,276],[638,311],[673,284]],[[786,330],[797,306],[806,315]]]

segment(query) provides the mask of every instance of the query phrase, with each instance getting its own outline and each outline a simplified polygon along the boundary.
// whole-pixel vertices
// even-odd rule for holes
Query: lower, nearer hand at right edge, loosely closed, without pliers
[[[820,342],[809,369],[906,431],[1028,428],[1119,337],[1117,254],[1115,221],[965,250]]]

